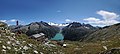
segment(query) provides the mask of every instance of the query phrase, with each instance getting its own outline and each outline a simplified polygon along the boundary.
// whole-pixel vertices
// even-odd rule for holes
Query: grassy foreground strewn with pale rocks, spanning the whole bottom
[[[1,54],[119,54],[119,41],[119,37],[98,42],[65,41],[67,46],[63,47],[51,40],[42,43],[29,39],[25,34],[16,36],[14,33],[1,33],[0,52]]]

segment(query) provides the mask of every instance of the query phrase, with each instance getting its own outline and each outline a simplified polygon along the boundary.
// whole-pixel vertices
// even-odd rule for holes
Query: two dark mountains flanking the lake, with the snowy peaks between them
[[[64,40],[80,40],[84,37],[84,35],[98,29],[90,24],[81,24],[79,22],[56,24],[46,23],[43,21],[32,22],[28,25],[13,25],[9,26],[9,28],[12,32],[21,31],[21,33],[25,33],[28,36],[38,33],[45,33],[48,38],[54,37],[56,33],[62,30],[61,33],[64,35]]]

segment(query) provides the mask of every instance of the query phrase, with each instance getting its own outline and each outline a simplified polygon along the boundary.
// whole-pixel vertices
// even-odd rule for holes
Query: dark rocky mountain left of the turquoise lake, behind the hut
[[[28,36],[31,36],[33,34],[44,33],[49,39],[53,38],[56,35],[56,33],[59,32],[58,27],[51,26],[43,21],[33,22],[25,26],[10,26],[9,28],[12,30],[12,32],[21,31],[22,33],[25,33]]]

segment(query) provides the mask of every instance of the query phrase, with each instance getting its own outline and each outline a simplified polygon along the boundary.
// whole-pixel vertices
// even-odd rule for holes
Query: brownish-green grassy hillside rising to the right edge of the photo
[[[86,35],[84,41],[104,41],[114,37],[120,37],[120,23],[105,26],[102,29],[96,30],[91,34]]]

